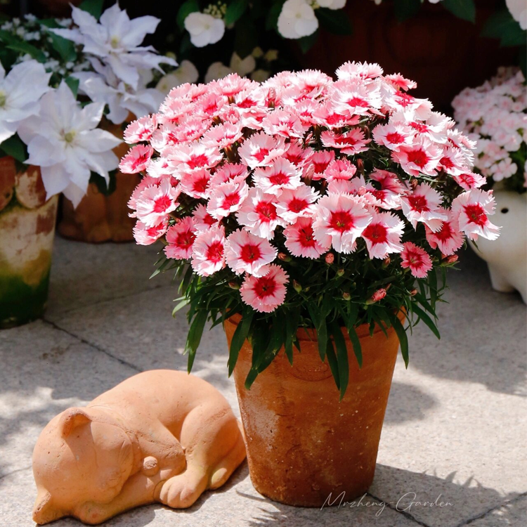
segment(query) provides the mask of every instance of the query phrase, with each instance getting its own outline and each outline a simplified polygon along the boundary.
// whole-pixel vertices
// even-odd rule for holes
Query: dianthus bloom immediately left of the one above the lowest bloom
[[[196,234],[192,246],[193,270],[200,276],[210,276],[225,267],[225,230],[212,227]]]

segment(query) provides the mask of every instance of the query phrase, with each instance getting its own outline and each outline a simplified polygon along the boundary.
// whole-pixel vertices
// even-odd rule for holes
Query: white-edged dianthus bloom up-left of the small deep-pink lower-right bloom
[[[370,258],[386,258],[391,252],[401,252],[401,235],[404,223],[390,212],[372,214],[372,221],[363,230],[362,238],[366,242]]]

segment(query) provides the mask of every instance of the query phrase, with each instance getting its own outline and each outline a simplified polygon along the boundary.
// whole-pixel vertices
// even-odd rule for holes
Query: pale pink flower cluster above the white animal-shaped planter
[[[477,140],[474,166],[494,181],[514,176],[527,165],[521,157],[527,143],[527,96],[521,71],[500,68],[478,88],[465,88],[453,102],[462,129]]]

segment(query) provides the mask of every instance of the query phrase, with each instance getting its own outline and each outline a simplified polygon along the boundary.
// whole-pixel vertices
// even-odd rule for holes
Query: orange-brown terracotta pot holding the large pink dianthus
[[[229,345],[236,322],[225,323]],[[346,339],[349,386],[340,402],[314,335],[300,332],[301,352],[294,349],[293,365],[282,349],[249,390],[244,384],[252,351],[248,342],[242,346],[234,378],[249,473],[254,488],[271,500],[321,507],[341,493],[344,500],[362,495],[372,483],[398,339],[392,328],[388,338],[378,327],[373,337],[367,326],[357,331],[363,367]]]

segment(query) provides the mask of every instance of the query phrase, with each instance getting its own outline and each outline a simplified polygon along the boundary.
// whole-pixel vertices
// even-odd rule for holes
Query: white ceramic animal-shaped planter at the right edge
[[[479,238],[476,254],[488,264],[493,288],[500,292],[518,291],[527,304],[527,193],[496,190],[496,214],[491,216],[501,226],[500,238]]]

